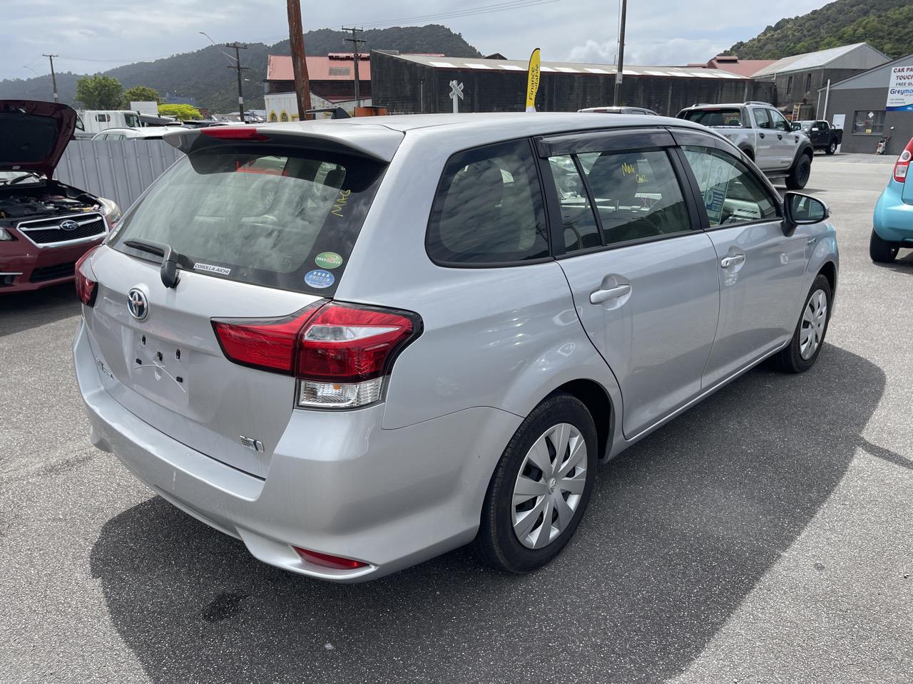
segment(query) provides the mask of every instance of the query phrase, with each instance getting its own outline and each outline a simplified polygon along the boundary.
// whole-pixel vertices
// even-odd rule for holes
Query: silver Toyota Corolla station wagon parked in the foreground
[[[824,204],[680,119],[223,127],[78,266],[91,439],[260,560],[530,571],[596,465],[834,307]]]

